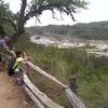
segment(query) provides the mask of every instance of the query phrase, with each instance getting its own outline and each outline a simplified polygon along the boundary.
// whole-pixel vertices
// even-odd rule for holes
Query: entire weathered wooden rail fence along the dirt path
[[[62,90],[64,90],[73,108],[86,108],[85,105],[80,100],[80,98],[69,89],[69,86],[65,85],[56,78],[43,71],[38,66],[35,66],[32,63],[26,62],[26,65],[29,66],[30,69],[35,70],[35,72],[40,73],[41,76],[56,83],[56,85],[58,85]],[[23,86],[25,92],[29,95],[29,97],[33,100],[33,103],[38,106],[38,108],[45,108],[44,106],[46,106],[48,108],[64,108],[63,106],[54,103],[38,87],[36,87],[29,80],[28,76],[26,75],[26,71],[24,71],[24,82],[26,83],[26,85]]]

